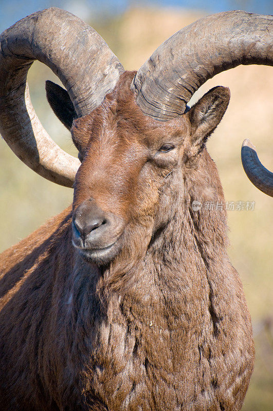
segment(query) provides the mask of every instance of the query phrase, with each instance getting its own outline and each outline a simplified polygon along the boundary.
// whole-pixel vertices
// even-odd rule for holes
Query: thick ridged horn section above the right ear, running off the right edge
[[[194,92],[240,64],[273,65],[273,16],[228,11],[177,31],[138,70],[132,90],[144,114],[169,120],[184,113]]]

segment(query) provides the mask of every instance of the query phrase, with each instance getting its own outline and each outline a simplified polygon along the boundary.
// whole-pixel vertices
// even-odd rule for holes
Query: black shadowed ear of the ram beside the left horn
[[[58,84],[47,80],[46,97],[58,119],[70,130],[73,120],[77,118],[77,113],[68,92]]]

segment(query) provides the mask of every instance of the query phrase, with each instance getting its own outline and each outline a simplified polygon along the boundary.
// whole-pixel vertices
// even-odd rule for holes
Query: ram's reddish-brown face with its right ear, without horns
[[[184,173],[196,167],[204,141],[229,100],[215,88],[183,116],[145,116],[122,74],[112,94],[91,114],[72,122],[82,164],[74,184],[73,244],[87,260],[108,264],[142,230],[148,246],[183,198]],[[168,194],[167,194],[168,193]]]

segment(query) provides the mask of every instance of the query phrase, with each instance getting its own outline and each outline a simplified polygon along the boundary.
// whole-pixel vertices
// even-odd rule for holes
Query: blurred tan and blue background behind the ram
[[[125,69],[138,69],[157,46],[198,18],[241,9],[272,14],[272,0],[0,0],[0,32],[37,10],[58,6],[93,26]],[[35,62],[28,76],[32,103],[50,136],[77,156],[69,132],[51,113],[45,80],[60,84]],[[1,79],[0,79],[1,81]],[[229,254],[244,285],[256,341],[256,367],[244,411],[269,411],[273,404],[273,199],[258,192],[243,172],[242,141],[250,138],[262,163],[273,171],[273,71],[266,66],[239,66],[218,74],[193,96],[196,101],[215,85],[228,86],[231,100],[208,142],[227,201],[254,201],[254,210],[229,211]],[[15,244],[72,201],[72,190],[54,185],[25,166],[0,140],[0,251]]]

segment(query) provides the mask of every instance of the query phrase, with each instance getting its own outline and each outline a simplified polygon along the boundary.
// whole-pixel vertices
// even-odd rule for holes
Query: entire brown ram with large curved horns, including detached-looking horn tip
[[[57,8],[24,18],[0,42],[3,138],[35,172],[74,186],[72,207],[0,257],[1,409],[241,409],[254,347],[226,211],[193,207],[224,202],[206,140],[230,94],[215,87],[187,102],[220,71],[272,65],[272,17],[202,18],[137,72]],[[67,90],[46,84],[80,160],[34,113],[34,60]],[[272,173],[255,156],[243,148],[245,169],[273,195]]]

